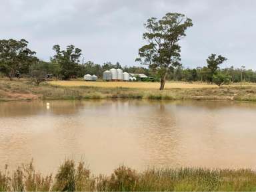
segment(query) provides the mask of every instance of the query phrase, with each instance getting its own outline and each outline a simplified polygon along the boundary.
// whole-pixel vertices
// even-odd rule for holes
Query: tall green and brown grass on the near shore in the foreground
[[[42,175],[33,163],[12,174],[0,172],[0,191],[256,191],[251,169],[147,169],[120,166],[111,175],[92,175],[80,162],[66,160],[56,175]]]

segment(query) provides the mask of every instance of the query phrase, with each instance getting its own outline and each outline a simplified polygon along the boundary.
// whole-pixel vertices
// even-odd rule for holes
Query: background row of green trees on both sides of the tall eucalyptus
[[[139,66],[121,66],[119,62],[112,64],[105,62],[104,64],[96,64],[94,62],[81,62],[81,49],[75,48],[73,45],[67,46],[65,50],[61,50],[59,45],[53,46],[56,54],[49,62],[39,60],[35,56],[35,52],[28,48],[28,42],[24,39],[15,41],[13,39],[0,41],[0,72],[13,79],[17,74],[23,74],[35,78],[37,83],[41,82],[46,74],[52,74],[55,78],[69,80],[69,78],[83,77],[84,74],[96,74],[102,77],[103,71],[109,68],[123,68],[123,70],[132,73],[144,73],[147,76],[161,78],[161,69],[155,67],[139,67]],[[219,68],[219,65],[227,60],[223,56],[211,54],[207,58],[207,66],[203,68],[183,68],[181,64],[176,67],[171,66],[167,74],[166,80],[177,81],[201,81],[216,84],[228,82],[243,81],[256,82],[256,72],[253,70],[245,70],[245,68]]]

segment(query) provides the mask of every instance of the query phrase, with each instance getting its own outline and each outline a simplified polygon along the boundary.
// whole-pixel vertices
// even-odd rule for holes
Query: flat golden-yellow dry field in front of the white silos
[[[160,83],[159,82],[86,82],[86,81],[65,81],[58,80],[49,82],[49,84],[56,86],[95,86],[103,88],[141,88],[141,89],[152,89],[158,90]],[[214,84],[199,84],[199,83],[188,83],[188,82],[166,82],[165,90],[171,88],[217,88]]]

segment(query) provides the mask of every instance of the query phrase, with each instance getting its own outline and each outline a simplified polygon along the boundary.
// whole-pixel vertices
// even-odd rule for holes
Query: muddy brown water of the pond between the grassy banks
[[[93,173],[121,164],[256,168],[256,104],[145,100],[0,102],[0,166],[33,159],[56,171],[83,159]]]

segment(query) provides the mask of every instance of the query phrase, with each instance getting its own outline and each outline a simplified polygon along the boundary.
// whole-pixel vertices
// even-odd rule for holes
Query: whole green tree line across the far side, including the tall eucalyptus
[[[192,20],[180,13],[167,13],[162,19],[148,19],[143,33],[143,39],[147,44],[139,48],[139,56],[136,58],[137,62],[147,67],[122,67],[119,62],[84,62],[81,60],[82,50],[74,45],[69,45],[65,49],[54,45],[55,54],[47,62],[37,58],[36,52],[28,48],[29,42],[25,39],[3,39],[0,40],[0,73],[8,76],[10,80],[29,76],[39,84],[45,80],[47,74],[61,80],[83,77],[87,73],[101,78],[105,70],[123,68],[126,72],[144,73],[154,77],[154,80],[160,82],[160,90],[164,89],[166,80],[201,81],[219,86],[230,82],[256,82],[256,72],[245,70],[244,66],[220,68],[227,58],[216,54],[210,54],[203,67],[183,68],[179,41],[186,36],[185,31],[192,26]]]

